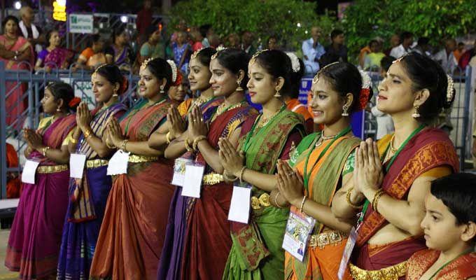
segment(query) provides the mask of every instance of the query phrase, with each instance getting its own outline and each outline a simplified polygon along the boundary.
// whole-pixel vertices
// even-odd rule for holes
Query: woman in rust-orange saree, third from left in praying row
[[[139,94],[143,98],[120,123],[108,125],[106,143],[129,152],[127,174],[113,176],[97,247],[90,269],[91,279],[155,279],[174,193],[172,162],[162,158],[167,143],[167,90],[173,83],[172,68],[165,59],[148,59],[140,70]],[[108,140],[109,138],[109,140]]]

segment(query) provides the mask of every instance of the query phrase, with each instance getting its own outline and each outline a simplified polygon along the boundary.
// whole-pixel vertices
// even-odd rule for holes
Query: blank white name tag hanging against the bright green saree
[[[251,185],[239,182],[233,186],[232,202],[228,212],[228,220],[248,223],[250,218]]]

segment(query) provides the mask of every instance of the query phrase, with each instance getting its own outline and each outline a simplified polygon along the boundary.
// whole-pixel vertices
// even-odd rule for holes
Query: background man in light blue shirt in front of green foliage
[[[314,75],[319,71],[319,59],[325,53],[323,45],[318,42],[321,36],[319,27],[311,28],[311,38],[302,42],[302,54],[304,55],[304,73]]]

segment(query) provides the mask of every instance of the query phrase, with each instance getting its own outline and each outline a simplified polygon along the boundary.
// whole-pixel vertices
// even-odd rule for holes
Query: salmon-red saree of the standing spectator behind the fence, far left
[[[6,42],[6,37],[0,35],[0,45],[3,45],[6,50],[11,50],[13,52],[24,52],[29,50],[30,57],[27,61],[31,69],[34,66],[34,51],[31,44],[27,41],[26,38],[18,37],[17,41],[13,45],[8,45]],[[5,69],[8,70],[31,70],[25,63],[17,62],[13,59],[4,59],[0,57],[0,61],[5,63]],[[6,125],[14,125],[15,128],[20,129],[23,125],[25,118],[20,118],[22,113],[27,108],[27,98],[23,98],[23,93],[27,90],[27,83],[17,83],[17,82],[6,82],[6,100],[5,100],[5,109],[6,109]]]

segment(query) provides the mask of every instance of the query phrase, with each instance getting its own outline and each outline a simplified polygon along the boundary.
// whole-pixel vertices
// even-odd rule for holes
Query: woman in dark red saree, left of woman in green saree
[[[195,106],[188,114],[187,132],[172,143],[183,146],[181,142],[186,141],[198,152],[197,162],[205,166],[200,199],[188,200],[180,279],[221,279],[230,252],[232,185],[221,175],[218,139],[228,138],[236,146],[241,124],[256,113],[244,97],[248,59],[245,52],[235,49],[221,50],[211,57],[211,88],[215,97],[225,100],[205,116]]]

